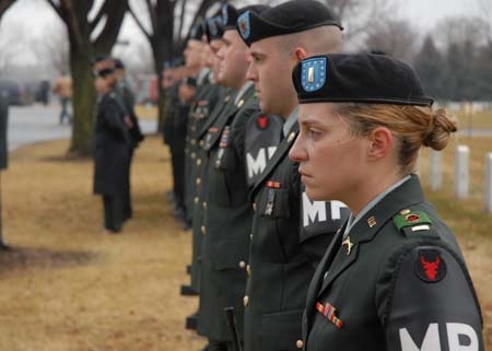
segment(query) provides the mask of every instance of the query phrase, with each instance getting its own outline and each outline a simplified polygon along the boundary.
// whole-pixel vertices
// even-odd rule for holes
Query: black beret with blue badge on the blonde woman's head
[[[301,104],[333,102],[431,106],[407,63],[384,55],[329,54],[298,62],[292,79]]]

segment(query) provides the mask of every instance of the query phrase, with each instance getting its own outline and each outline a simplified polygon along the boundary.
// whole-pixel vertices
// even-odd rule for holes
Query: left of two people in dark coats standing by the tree
[[[94,130],[94,194],[103,196],[105,229],[118,233],[124,221],[122,196],[128,183],[128,117],[114,92],[117,81],[114,70],[104,68],[95,74],[99,97]]]

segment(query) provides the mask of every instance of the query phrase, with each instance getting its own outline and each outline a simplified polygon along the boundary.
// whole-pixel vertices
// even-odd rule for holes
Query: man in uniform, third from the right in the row
[[[233,350],[234,341],[224,308],[234,307],[239,340],[243,331],[242,297],[246,285],[246,261],[253,211],[244,152],[247,121],[259,112],[254,84],[246,79],[248,47],[236,30],[237,16],[249,10],[223,5],[223,46],[215,81],[234,91],[216,119],[208,126],[203,222],[201,226],[201,285],[198,332],[209,339],[209,350]]]

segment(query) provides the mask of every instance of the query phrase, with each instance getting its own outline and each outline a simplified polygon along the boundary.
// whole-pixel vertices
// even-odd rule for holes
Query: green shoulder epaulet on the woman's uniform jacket
[[[438,238],[437,233],[432,230],[432,221],[425,212],[405,209],[395,214],[393,222],[407,237],[418,235],[420,237]]]

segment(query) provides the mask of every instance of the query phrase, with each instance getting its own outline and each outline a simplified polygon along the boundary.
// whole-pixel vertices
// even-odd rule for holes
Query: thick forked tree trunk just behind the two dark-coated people
[[[95,91],[91,59],[108,55],[116,43],[128,0],[46,0],[68,30],[69,61],[73,78],[73,130],[70,151],[89,154]]]

